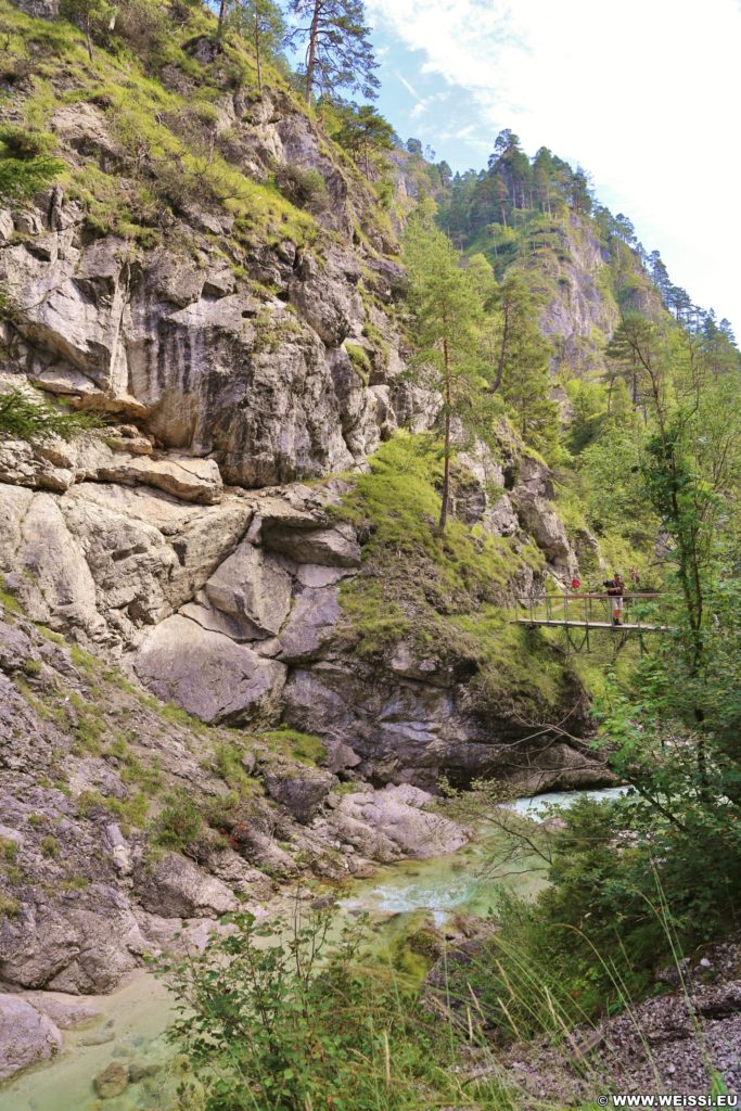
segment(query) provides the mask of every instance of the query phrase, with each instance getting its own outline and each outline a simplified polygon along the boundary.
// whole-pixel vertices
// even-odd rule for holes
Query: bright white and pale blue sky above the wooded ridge
[[[741,338],[741,0],[366,0],[378,107],[453,170],[511,128]]]

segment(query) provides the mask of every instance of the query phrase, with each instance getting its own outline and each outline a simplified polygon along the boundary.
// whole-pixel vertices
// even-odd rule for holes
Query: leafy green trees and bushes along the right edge
[[[630,403],[608,408],[578,473],[601,528],[644,548],[663,531],[673,633],[605,675],[594,745],[631,791],[563,815],[551,885],[534,908],[504,909],[494,948],[511,952],[484,978],[501,991],[522,968],[553,998],[565,988],[567,1025],[627,1005],[741,910],[741,383],[713,369],[701,336],[665,319],[627,316],[610,360],[610,391],[625,383],[640,419]],[[528,1018],[514,997],[510,1033]]]

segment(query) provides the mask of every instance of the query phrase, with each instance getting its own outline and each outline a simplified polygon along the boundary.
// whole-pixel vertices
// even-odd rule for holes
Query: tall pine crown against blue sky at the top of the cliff
[[[362,0],[291,0],[290,11],[299,23],[291,41],[307,44],[307,103],[316,88],[327,96],[351,89],[373,100],[378,63]]]

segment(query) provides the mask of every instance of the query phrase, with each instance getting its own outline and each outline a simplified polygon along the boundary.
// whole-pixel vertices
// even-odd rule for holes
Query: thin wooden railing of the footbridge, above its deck
[[[621,595],[622,624],[639,629],[655,629],[662,624],[661,594],[635,591]],[[524,600],[514,599],[518,623],[552,621],[554,624],[579,624],[585,628],[612,623],[611,595],[607,591],[541,591]]]

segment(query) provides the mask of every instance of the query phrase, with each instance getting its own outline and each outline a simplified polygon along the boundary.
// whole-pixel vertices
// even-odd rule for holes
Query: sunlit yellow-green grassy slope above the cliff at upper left
[[[192,9],[183,23],[162,27],[149,52],[138,53],[133,40],[111,37],[93,50],[92,60],[83,34],[63,19],[32,19],[0,0],[0,21],[4,71],[22,90],[17,99],[23,124],[12,129],[13,136],[32,141],[29,157],[11,158],[0,133],[3,196],[24,199],[58,177],[68,197],[83,204],[93,234],[113,233],[144,247],[159,241],[173,213],[187,214],[191,206],[233,218],[232,246],[244,247],[252,238],[290,238],[299,246],[317,239],[312,216],[282,196],[274,181],[243,174],[230,161],[227,140],[221,148],[212,144],[212,102],[229,88],[253,87],[254,66],[238,42],[226,43],[211,64],[191,57],[188,43],[214,29],[204,11]],[[164,88],[158,79],[164,66],[193,82],[189,96]],[[300,111],[286,81],[274,72],[270,77]],[[69,166],[54,157],[51,116],[66,104],[86,102],[103,114],[116,150],[104,170],[92,160]]]

